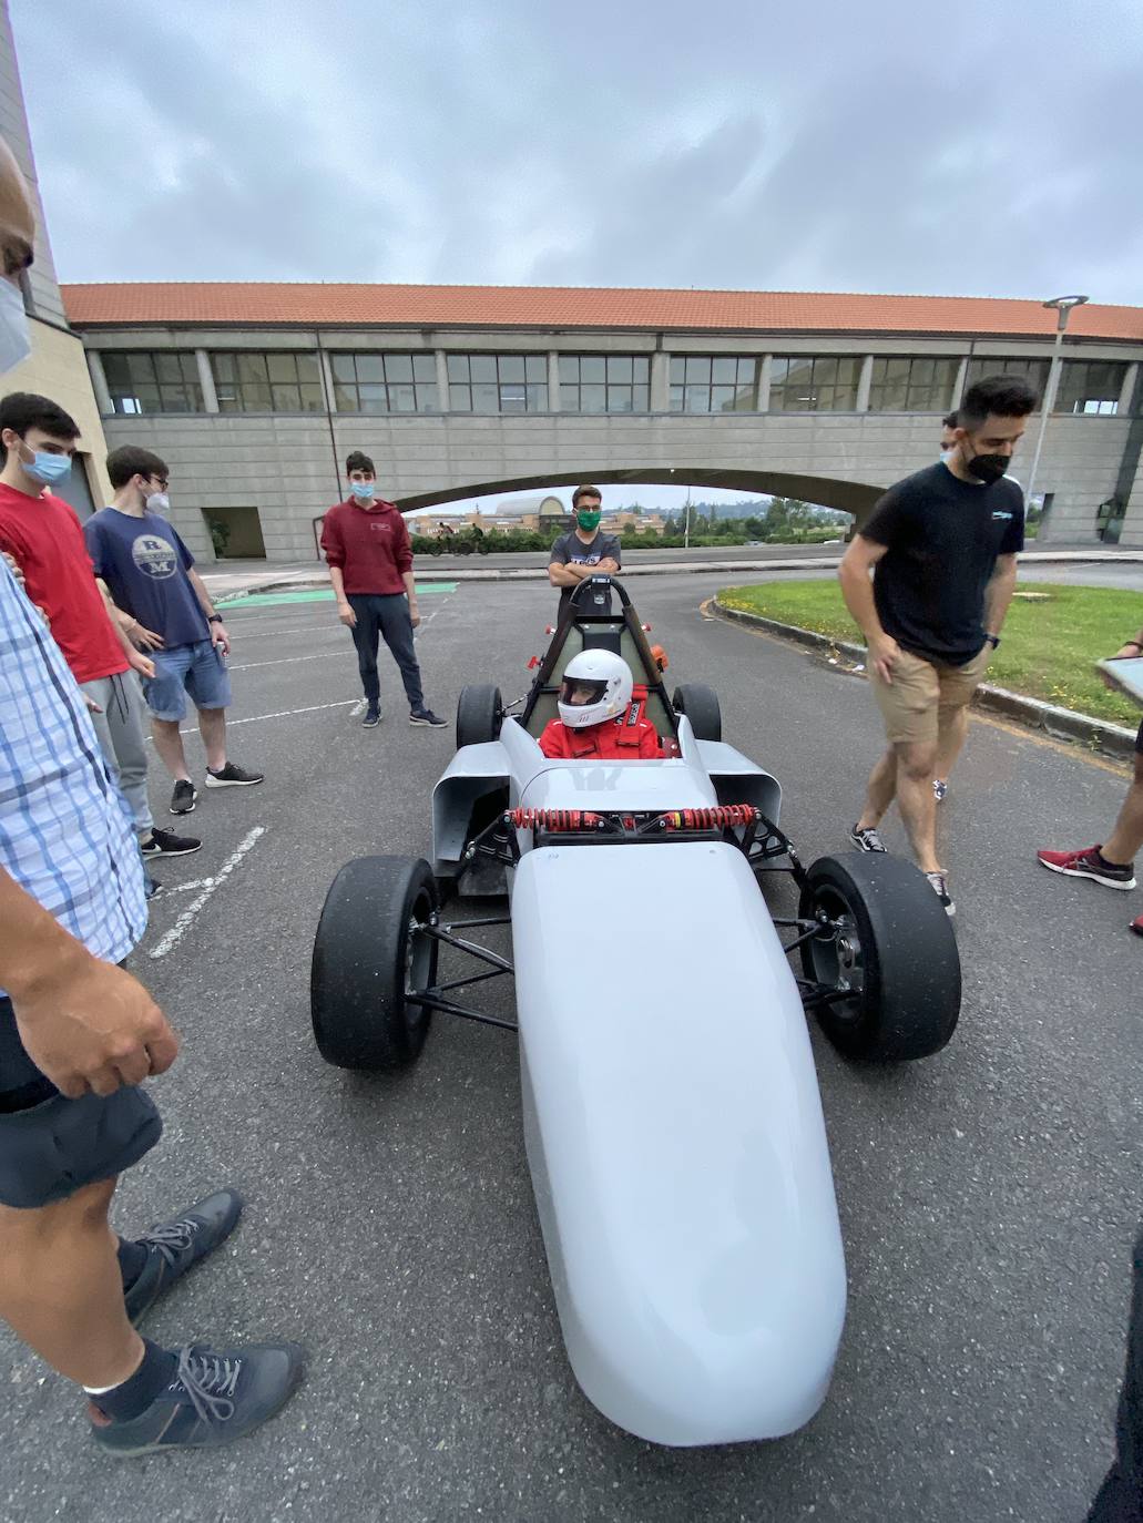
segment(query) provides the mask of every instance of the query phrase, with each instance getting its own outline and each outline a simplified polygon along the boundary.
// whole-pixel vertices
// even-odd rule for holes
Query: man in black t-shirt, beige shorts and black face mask
[[[869,644],[888,739],[849,836],[863,851],[884,851],[878,825],[896,797],[917,867],[949,915],[933,778],[946,780],[960,752],[968,704],[1012,600],[1024,493],[1004,472],[1035,405],[1015,376],[969,387],[951,454],[885,492],[838,573]]]

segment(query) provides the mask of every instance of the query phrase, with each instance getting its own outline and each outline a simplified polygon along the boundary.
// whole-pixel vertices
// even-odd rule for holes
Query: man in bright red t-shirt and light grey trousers
[[[55,643],[87,698],[108,771],[126,798],[145,857],[184,856],[201,841],[155,830],[146,797],[143,694],[151,661],[108,615],[84,532],[50,486],[72,469],[79,428],[46,396],[14,391],[0,401],[0,550],[12,556],[27,595],[47,615]]]

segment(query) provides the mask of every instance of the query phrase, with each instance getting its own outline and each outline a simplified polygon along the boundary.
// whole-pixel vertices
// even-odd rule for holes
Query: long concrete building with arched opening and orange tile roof
[[[64,305],[108,442],[163,455],[207,556],[210,522],[232,553],[315,556],[358,448],[405,510],[587,480],[861,519],[998,370],[1047,398],[1041,536],[1143,547],[1138,308],[1077,308],[1053,361],[1053,311],[966,297],[133,283],[66,286]]]

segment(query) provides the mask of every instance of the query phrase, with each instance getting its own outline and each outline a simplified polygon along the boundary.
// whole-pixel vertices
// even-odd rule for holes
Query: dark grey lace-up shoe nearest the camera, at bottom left
[[[120,1459],[232,1444],[282,1410],[302,1381],[303,1359],[297,1343],[184,1348],[175,1378],[137,1418],[114,1422],[90,1407],[91,1438]]]

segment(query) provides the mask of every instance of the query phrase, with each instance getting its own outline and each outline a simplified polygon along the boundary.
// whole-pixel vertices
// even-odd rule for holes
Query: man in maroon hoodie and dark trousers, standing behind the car
[[[393,652],[408,696],[408,723],[443,730],[448,720],[425,707],[413,631],[421,623],[413,583],[413,551],[405,521],[392,503],[375,496],[376,472],[369,455],[355,449],[346,460],[349,498],[337,503],[322,525],[322,550],[329,562],[337,614],[352,631],[357,664],[366,690],[367,730],[381,722],[376,676],[378,637]]]

